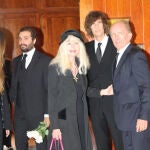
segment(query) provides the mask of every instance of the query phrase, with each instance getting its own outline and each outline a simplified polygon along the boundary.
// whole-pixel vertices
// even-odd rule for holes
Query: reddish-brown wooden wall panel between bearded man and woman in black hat
[[[60,16],[51,17],[48,14],[42,16],[42,30],[44,37],[44,51],[52,56],[57,53],[60,35],[64,30],[79,30],[79,17]]]

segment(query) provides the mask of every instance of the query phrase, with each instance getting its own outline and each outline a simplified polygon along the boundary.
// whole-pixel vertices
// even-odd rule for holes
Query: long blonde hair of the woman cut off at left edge
[[[0,31],[0,93],[2,94],[4,91],[4,52],[6,47],[5,36],[2,31]]]

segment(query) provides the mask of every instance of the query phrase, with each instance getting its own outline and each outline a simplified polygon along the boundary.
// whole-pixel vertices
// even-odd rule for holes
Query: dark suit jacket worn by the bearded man
[[[11,100],[15,104],[15,118],[23,115],[28,121],[29,129],[37,127],[40,121],[43,121],[44,114],[47,113],[48,96],[48,65],[50,58],[45,54],[35,50],[33,58],[27,68],[26,76],[22,77],[22,95],[23,106],[17,107],[18,99],[18,77],[20,71],[20,62],[22,55],[13,61],[12,85],[10,91]]]

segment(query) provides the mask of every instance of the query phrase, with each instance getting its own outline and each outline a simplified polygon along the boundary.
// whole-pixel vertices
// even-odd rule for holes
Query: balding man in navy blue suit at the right
[[[150,149],[150,71],[144,52],[130,43],[129,22],[111,26],[111,37],[119,53],[114,64],[114,112],[122,131],[124,150]]]

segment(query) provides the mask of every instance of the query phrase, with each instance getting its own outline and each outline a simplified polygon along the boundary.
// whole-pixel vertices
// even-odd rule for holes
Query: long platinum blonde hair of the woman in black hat
[[[66,71],[71,68],[69,57],[66,51],[66,45],[70,39],[79,43],[79,54],[76,56],[79,60],[78,70],[79,74],[86,74],[90,67],[90,63],[86,53],[85,45],[79,38],[73,35],[69,35],[66,40],[60,44],[57,55],[51,61],[50,65],[58,65],[60,73],[66,75]]]

